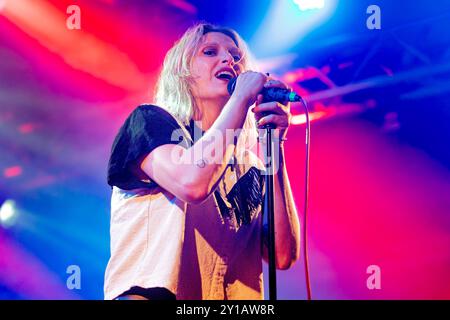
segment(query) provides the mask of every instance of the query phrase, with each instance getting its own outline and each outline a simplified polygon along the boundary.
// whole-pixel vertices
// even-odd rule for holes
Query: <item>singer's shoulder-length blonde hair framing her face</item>
[[[236,31],[204,22],[190,27],[167,52],[155,92],[155,103],[184,125],[188,125],[198,111],[190,89],[192,83],[190,63],[201,43],[202,36],[209,32],[220,32],[229,36],[242,52],[241,70],[255,70],[251,53]],[[256,143],[256,134],[253,113],[248,112],[241,134],[245,141],[241,143],[244,143],[246,148],[251,148]],[[239,143],[238,141],[238,149]]]

